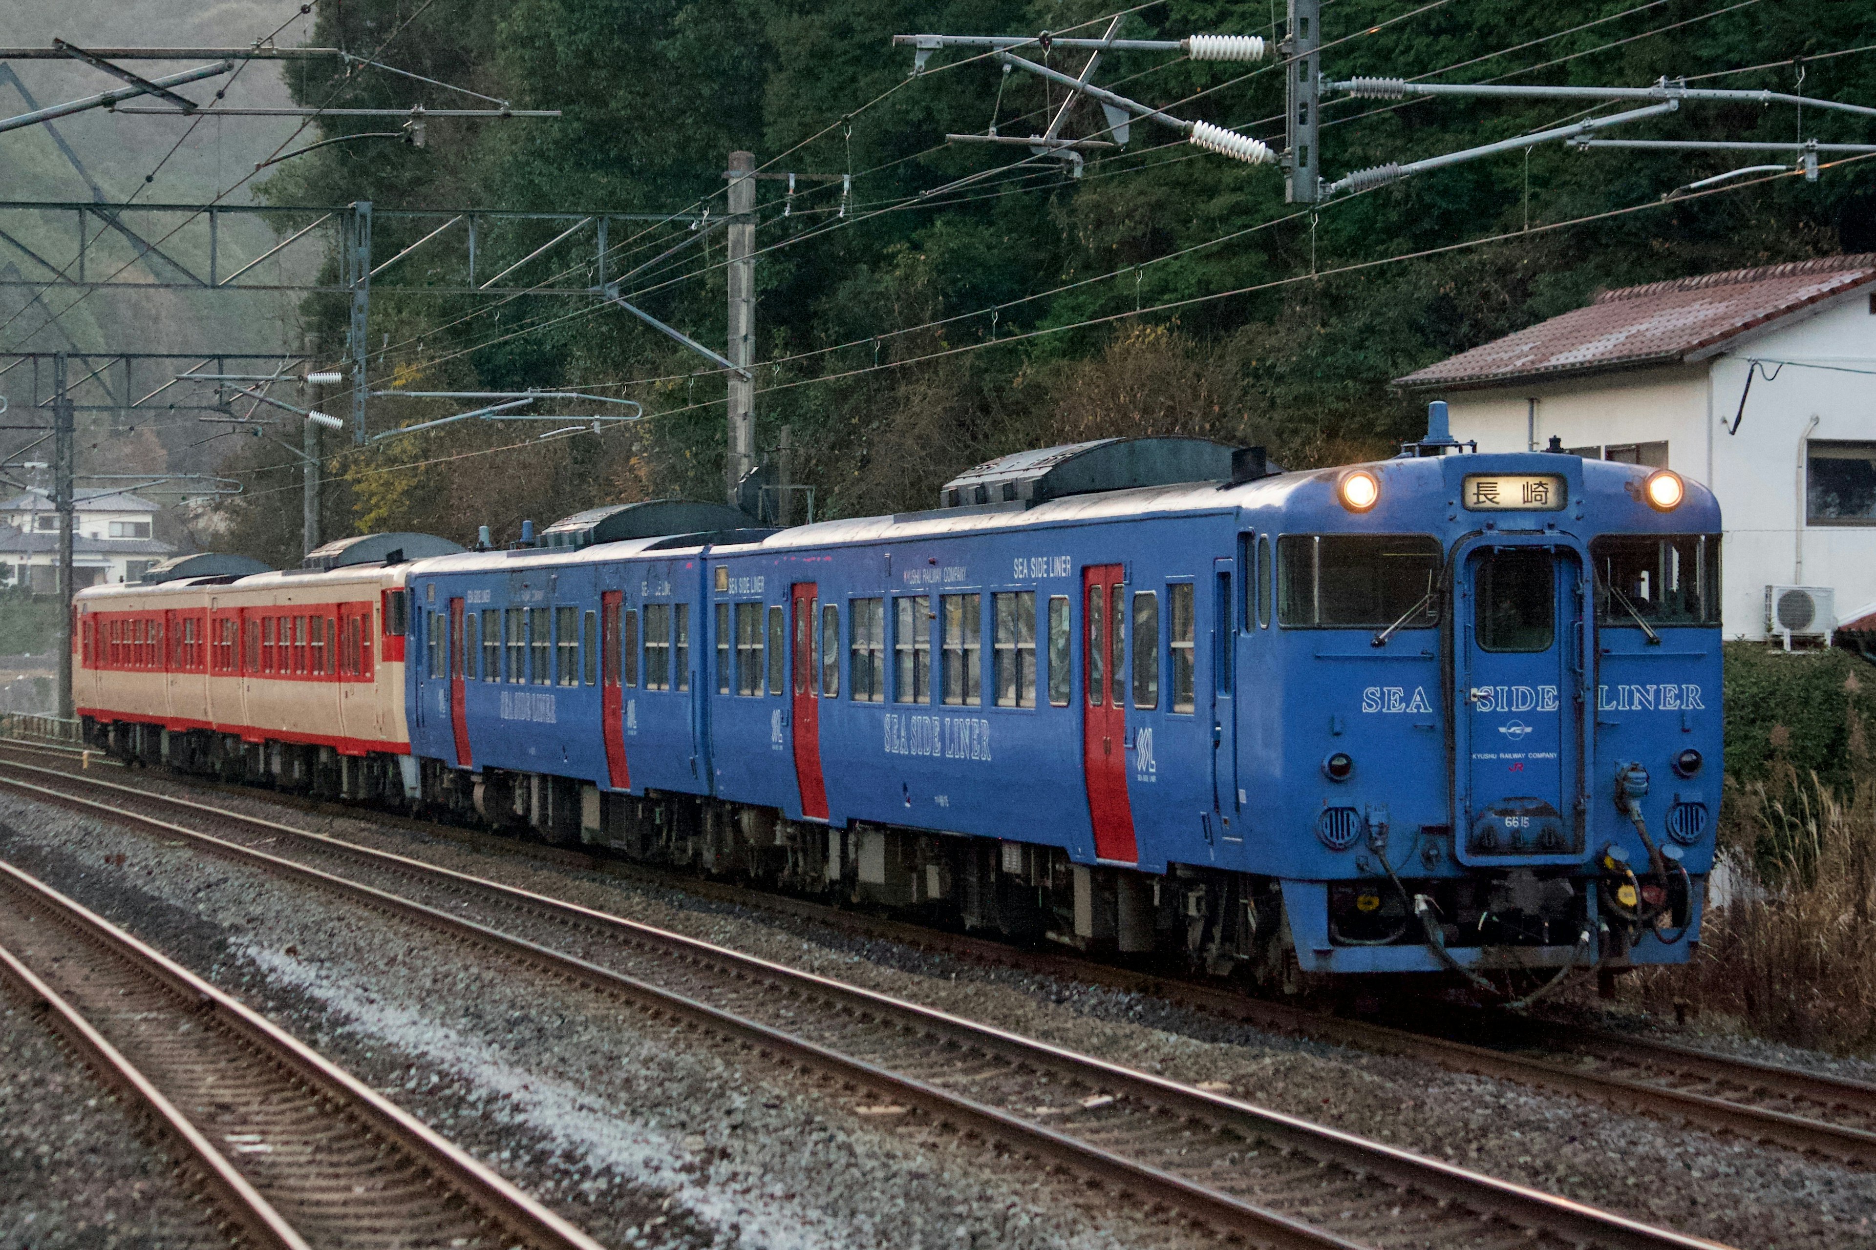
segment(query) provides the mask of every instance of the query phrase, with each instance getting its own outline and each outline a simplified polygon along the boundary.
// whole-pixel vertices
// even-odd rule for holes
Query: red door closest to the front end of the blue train
[[[1133,864],[1133,808],[1127,802],[1127,682],[1122,622],[1126,588],[1118,564],[1081,570],[1081,768],[1088,781],[1088,817],[1096,858]]]

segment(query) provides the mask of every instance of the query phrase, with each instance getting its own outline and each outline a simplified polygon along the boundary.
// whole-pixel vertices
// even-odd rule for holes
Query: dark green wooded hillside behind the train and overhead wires
[[[1724,11],[1692,0],[1418,7],[1330,6],[1324,66],[1334,77],[1643,84],[1857,47],[1870,15],[1867,4],[1825,0]],[[370,52],[409,11],[394,0],[321,6],[313,41]],[[1876,246],[1859,242],[1876,234],[1863,165],[1816,184],[1778,180],[1662,204],[1673,187],[1741,161],[1551,144],[1529,159],[1460,165],[1311,214],[1283,202],[1278,171],[1197,152],[1135,122],[1126,152],[1094,156],[1069,178],[1022,148],[944,139],[981,133],[992,112],[1002,135],[1039,131],[1062,103],[1058,88],[1022,73],[1002,79],[992,60],[957,51],[908,79],[910,51],[889,45],[893,34],[921,30],[1062,32],[1103,11],[1047,0],[435,0],[392,39],[388,60],[565,116],[433,120],[422,150],[336,144],[283,165],[266,193],[386,206],[707,204],[720,216],[734,148],[777,161],[775,171],[852,172],[844,216],[839,182],[799,184],[786,217],[782,184],[758,189],[758,360],[771,362],[760,373],[758,440],[767,452],[777,431],[792,427],[795,478],[818,487],[822,515],[917,506],[961,467],[1064,437],[1203,425],[1212,437],[1263,440],[1289,465],[1383,454],[1420,424],[1420,401],[1392,392],[1390,379],[1576,307],[1600,287]],[[1268,36],[1279,11],[1167,0],[1126,17],[1118,34]],[[1103,28],[1105,19],[1081,30]],[[1060,49],[1047,58],[1081,66],[1081,54]],[[1807,94],[1876,97],[1876,54],[1810,60],[1803,75]],[[1133,52],[1107,56],[1097,75],[1182,116],[1278,144],[1281,79],[1272,62],[1212,66]],[[1773,66],[1703,81],[1792,90],[1797,71]],[[439,103],[407,79],[343,66],[308,73],[298,94],[310,103]],[[1338,176],[1578,114],[1531,101],[1338,99],[1324,107],[1323,165]],[[334,120],[326,133],[377,126]],[[1088,137],[1103,126],[1082,103],[1064,133]],[[1792,109],[1688,105],[1632,133],[1799,131]],[[1807,111],[1803,133],[1848,141],[1865,131],[1855,118]],[[1636,212],[1606,216],[1626,208]],[[418,229],[383,221],[379,255],[415,242]],[[484,221],[478,272],[520,260],[559,229]],[[687,238],[694,242],[632,272]],[[1495,242],[1441,251],[1488,238]],[[647,225],[610,242],[606,277],[628,274],[628,298],[700,341],[724,339],[720,232]],[[407,272],[375,285],[373,339],[388,341],[373,343],[373,375],[439,390],[615,386],[606,394],[643,401],[655,420],[630,437],[499,454],[490,448],[522,440],[514,427],[400,440],[385,454],[392,459],[358,459],[349,470],[411,463],[409,480],[364,491],[340,482],[334,508],[356,500],[360,525],[439,525],[467,512],[439,500],[478,489],[488,497],[497,472],[505,489],[486,504],[490,519],[544,519],[600,502],[553,491],[720,493],[720,375],[700,375],[696,356],[589,298],[497,305],[426,292],[460,285],[450,268],[458,257],[435,255],[430,268],[405,262]],[[555,274],[559,285],[598,281],[589,242],[561,246],[512,281]],[[1176,307],[1135,315],[1154,305]],[[304,313],[336,352],[343,302],[321,296]],[[1142,335],[1142,326],[1154,334]],[[1146,394],[1141,375],[1197,390]],[[381,407],[371,420],[383,427],[441,414]]]

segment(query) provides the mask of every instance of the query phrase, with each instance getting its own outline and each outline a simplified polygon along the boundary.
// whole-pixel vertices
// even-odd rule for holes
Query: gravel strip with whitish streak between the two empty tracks
[[[176,840],[8,796],[0,856],[242,995],[612,1246],[1188,1244],[981,1145],[869,1123],[754,1055]]]

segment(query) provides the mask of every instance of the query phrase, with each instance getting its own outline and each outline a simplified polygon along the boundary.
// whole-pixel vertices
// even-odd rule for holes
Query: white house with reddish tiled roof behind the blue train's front
[[[1445,399],[1480,452],[1555,437],[1709,485],[1726,637],[1767,637],[1767,611],[1820,639],[1876,613],[1876,255],[1606,290],[1396,386]]]

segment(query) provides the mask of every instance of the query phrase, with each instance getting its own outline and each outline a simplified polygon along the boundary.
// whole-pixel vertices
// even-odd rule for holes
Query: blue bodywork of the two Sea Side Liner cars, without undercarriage
[[[1657,510],[1643,470],[1570,455],[1358,470],[1379,487],[1364,512],[1338,469],[424,560],[413,751],[831,830],[1249,873],[1281,883],[1296,963],[1321,973],[1503,958],[1339,931],[1394,907],[1379,886],[1349,903],[1364,881],[1510,883],[1499,911],[1521,916],[1542,907],[1518,890],[1563,881],[1596,915],[1623,860],[1651,858],[1617,802],[1642,774],[1645,828],[1702,879],[1713,497],[1688,484]],[[1683,933],[1649,928],[1626,958],[1685,960],[1687,909]],[[1574,937],[1527,933],[1529,965],[1572,958]]]

